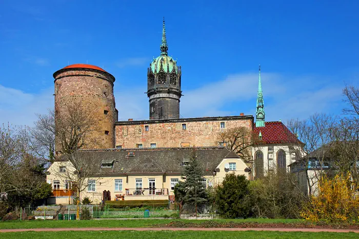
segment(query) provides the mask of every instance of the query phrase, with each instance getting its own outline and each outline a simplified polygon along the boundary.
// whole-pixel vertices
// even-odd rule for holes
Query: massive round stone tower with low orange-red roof
[[[113,96],[115,78],[105,70],[90,64],[72,64],[53,74],[55,83],[55,118],[68,105],[80,104],[91,110],[96,122],[84,149],[114,148],[117,110]],[[56,121],[55,121],[56,122]],[[58,143],[55,152],[61,153]]]

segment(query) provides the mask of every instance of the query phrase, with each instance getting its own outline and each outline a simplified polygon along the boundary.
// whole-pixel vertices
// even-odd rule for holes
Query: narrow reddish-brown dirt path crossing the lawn
[[[355,232],[358,229],[327,229],[327,228],[197,228],[197,227],[92,227],[92,228],[29,228],[29,229],[0,229],[0,232],[24,231],[303,231],[303,232]]]

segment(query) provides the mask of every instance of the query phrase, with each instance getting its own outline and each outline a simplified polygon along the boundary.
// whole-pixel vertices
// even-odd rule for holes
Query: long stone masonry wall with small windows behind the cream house
[[[115,126],[116,146],[135,148],[142,144],[145,148],[150,147],[151,143],[155,143],[156,147],[218,146],[217,136],[225,130],[221,129],[221,122],[225,123],[225,128],[244,126],[252,129],[253,117],[250,116],[213,118],[118,122]],[[186,124],[186,129],[183,129],[183,124]],[[145,131],[146,126],[149,131]]]

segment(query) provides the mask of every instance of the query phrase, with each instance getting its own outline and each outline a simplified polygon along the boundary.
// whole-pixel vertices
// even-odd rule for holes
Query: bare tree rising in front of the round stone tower
[[[77,219],[79,220],[79,204],[81,193],[87,189],[88,180],[96,176],[93,157],[89,152],[81,151],[98,145],[91,134],[96,125],[92,110],[81,103],[69,105],[55,117],[55,144],[59,166],[65,166],[66,171],[54,170],[56,176],[64,182],[68,181],[76,193]],[[98,178],[97,178],[98,180]]]

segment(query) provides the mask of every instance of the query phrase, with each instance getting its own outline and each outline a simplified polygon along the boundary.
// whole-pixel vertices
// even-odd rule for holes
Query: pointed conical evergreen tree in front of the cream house
[[[181,206],[197,208],[208,202],[206,186],[202,183],[203,170],[196,159],[196,151],[193,149],[189,164],[184,167],[181,175],[182,181],[178,182],[174,194]]]

